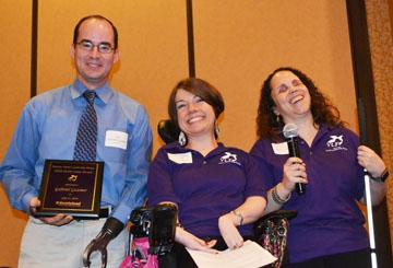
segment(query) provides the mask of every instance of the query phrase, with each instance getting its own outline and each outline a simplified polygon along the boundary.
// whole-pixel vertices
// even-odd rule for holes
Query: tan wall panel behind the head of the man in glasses
[[[109,18],[119,31],[120,63],[111,85],[145,105],[155,129],[166,116],[170,89],[188,75],[184,1],[46,0],[39,7],[38,92],[73,80],[73,27],[95,13]],[[154,141],[156,150],[156,133]]]

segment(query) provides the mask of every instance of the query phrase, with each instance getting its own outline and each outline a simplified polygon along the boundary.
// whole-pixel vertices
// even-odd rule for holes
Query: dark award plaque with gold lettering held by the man
[[[98,219],[104,162],[46,160],[36,217]]]

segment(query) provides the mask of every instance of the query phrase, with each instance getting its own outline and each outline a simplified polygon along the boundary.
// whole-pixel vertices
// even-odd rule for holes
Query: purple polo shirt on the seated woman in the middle
[[[160,148],[147,179],[150,206],[171,201],[179,207],[179,222],[199,237],[221,236],[218,218],[265,190],[253,159],[222,143],[206,156],[177,142]],[[238,228],[251,235],[252,225]]]

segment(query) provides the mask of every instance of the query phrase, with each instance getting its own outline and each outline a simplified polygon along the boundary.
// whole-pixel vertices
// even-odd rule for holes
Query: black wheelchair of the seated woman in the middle
[[[176,141],[179,135],[179,130],[167,119],[158,123],[157,130],[165,143]],[[297,211],[294,210],[273,211],[253,224],[255,242],[277,258],[265,267],[279,268],[287,261],[289,220],[296,215]],[[168,203],[134,209],[129,220],[128,256],[120,268],[159,267],[159,256],[170,253],[175,245],[176,217],[176,206]],[[106,267],[106,249],[95,247],[94,241],[85,249],[84,264],[88,264],[88,256],[93,250],[100,250],[102,267]]]

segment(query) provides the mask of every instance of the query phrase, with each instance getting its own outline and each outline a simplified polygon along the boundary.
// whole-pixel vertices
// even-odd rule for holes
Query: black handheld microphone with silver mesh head
[[[298,141],[298,128],[295,124],[288,123],[283,128],[283,135],[287,140],[289,156],[290,158],[299,158],[299,141]],[[306,194],[306,184],[297,183],[295,185],[296,193],[301,196]]]

